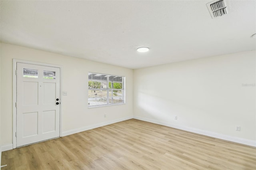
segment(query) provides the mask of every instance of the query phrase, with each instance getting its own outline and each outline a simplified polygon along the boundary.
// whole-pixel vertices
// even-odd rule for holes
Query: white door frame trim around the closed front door
[[[60,68],[60,137],[62,137],[62,66],[61,65],[53,65],[47,63],[39,63],[34,61],[26,61],[20,59],[12,59],[12,148],[17,148],[17,77],[16,77],[16,70],[17,70],[17,63],[26,63],[26,64],[33,64],[33,65],[42,65],[48,67],[57,67]]]

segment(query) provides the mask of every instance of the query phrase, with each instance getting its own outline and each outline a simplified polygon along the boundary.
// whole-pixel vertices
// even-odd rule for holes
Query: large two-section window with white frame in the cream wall
[[[88,73],[88,108],[124,104],[125,77]]]

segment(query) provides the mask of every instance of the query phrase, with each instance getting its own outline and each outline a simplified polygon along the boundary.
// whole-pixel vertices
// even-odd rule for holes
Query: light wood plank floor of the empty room
[[[256,170],[256,148],[136,119],[2,152],[2,170]]]

